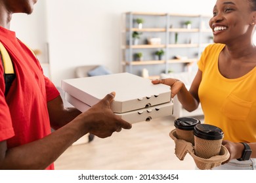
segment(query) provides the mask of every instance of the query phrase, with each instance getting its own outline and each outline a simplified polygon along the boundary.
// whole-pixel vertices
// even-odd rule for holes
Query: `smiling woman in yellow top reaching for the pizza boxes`
[[[153,81],[171,86],[188,111],[201,103],[204,123],[223,130],[230,158],[216,169],[256,169],[255,24],[256,0],[217,0],[209,21],[215,44],[203,51],[190,90],[174,78]]]

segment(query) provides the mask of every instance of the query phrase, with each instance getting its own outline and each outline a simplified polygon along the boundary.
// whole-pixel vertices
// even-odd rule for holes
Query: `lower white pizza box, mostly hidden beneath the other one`
[[[81,112],[85,112],[90,108],[89,105],[79,101],[72,95],[65,93],[65,99],[72,104],[75,108],[80,110]],[[163,103],[160,105],[154,105],[148,108],[140,108],[139,110],[133,110],[129,112],[123,113],[115,113],[120,116],[123,120],[129,122],[130,124],[134,124],[137,122],[150,121],[155,118],[160,118],[162,116],[169,116],[173,114],[173,100]]]

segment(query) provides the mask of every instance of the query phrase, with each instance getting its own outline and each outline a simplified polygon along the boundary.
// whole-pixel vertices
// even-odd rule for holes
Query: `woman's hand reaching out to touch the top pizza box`
[[[167,79],[161,79],[161,80],[152,80],[153,84],[166,84],[168,86],[171,86],[171,97],[173,98],[175,95],[179,93],[182,86],[184,86],[183,82],[180,80],[177,80],[175,78],[167,78]]]

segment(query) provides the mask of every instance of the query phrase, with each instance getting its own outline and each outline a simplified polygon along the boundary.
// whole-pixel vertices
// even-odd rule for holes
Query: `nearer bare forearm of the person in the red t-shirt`
[[[74,120],[43,139],[10,148],[1,156],[0,169],[46,169],[85,133],[81,122]]]

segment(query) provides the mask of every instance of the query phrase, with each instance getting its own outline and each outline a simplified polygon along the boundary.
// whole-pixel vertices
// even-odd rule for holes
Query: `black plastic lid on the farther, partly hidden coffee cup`
[[[201,124],[201,122],[200,122],[200,120],[198,120],[196,118],[184,117],[184,118],[177,118],[174,121],[175,127],[177,127],[178,129],[183,129],[183,130],[194,130],[194,127],[197,124]]]

